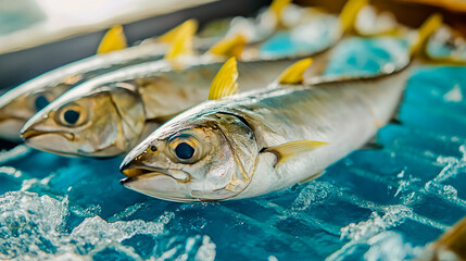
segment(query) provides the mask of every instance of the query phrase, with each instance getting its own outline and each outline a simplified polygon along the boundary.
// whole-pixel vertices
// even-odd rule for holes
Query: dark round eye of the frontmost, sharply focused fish
[[[173,158],[180,163],[192,164],[201,160],[202,147],[192,135],[179,135],[168,140],[168,148]]]

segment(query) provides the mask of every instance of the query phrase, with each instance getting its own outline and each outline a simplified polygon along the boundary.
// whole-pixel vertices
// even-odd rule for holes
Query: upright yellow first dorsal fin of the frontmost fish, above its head
[[[238,69],[236,58],[230,58],[221,67],[215,78],[212,80],[209,100],[235,95],[238,92]]]

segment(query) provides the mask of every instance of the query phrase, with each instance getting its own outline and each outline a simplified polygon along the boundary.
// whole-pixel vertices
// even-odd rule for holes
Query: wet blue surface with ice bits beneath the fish
[[[367,55],[341,49],[341,72],[379,61],[370,41],[358,42]],[[383,61],[390,55],[379,46]],[[316,181],[240,201],[158,200],[119,185],[122,159],[18,146],[0,153],[0,259],[413,258],[466,215],[465,96],[466,67],[416,69],[403,124],[378,133],[382,149],[355,151]]]

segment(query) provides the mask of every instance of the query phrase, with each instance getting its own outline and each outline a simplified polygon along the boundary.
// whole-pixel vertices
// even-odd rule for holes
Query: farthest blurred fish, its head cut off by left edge
[[[121,26],[102,39],[98,55],[79,60],[30,79],[0,97],[0,138],[21,141],[20,129],[35,113],[65,91],[97,75],[147,61],[160,60],[175,34],[194,34],[197,22],[188,20],[162,35],[156,44],[126,48]],[[118,51],[116,51],[118,50]]]

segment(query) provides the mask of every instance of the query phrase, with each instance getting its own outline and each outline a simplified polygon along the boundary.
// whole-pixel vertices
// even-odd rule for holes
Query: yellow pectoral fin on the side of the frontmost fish
[[[325,145],[329,144],[315,140],[297,140],[265,149],[264,152],[270,152],[278,157],[277,164],[275,164],[277,166],[294,156],[312,151]]]

